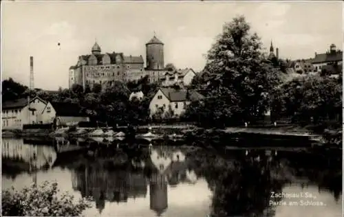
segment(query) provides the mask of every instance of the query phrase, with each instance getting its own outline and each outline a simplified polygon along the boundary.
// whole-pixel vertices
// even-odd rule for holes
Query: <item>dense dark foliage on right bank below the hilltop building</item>
[[[341,123],[342,93],[341,78],[303,76],[275,88],[271,104],[275,113],[306,124]]]

